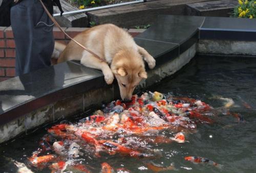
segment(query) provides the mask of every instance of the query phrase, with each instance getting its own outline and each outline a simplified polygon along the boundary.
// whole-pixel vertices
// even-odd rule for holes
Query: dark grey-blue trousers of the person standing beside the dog
[[[16,45],[16,76],[51,65],[53,22],[38,0],[23,0],[11,8]]]

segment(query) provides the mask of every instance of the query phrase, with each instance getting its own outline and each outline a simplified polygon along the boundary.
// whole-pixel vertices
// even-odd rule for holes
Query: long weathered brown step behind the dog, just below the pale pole
[[[96,24],[113,23],[123,28],[134,28],[136,25],[152,24],[158,15],[184,15],[188,3],[210,0],[158,0],[109,9],[88,12],[90,21]]]

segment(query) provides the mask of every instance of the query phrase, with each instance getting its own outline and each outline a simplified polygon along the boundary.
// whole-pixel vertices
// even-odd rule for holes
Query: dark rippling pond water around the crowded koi
[[[241,113],[244,123],[229,115],[220,115],[212,125],[198,125],[198,133],[188,135],[187,143],[159,144],[163,157],[155,163],[168,166],[174,162],[178,172],[254,172],[256,168],[256,59],[195,57],[174,77],[148,88],[162,93],[197,98],[217,108],[223,102],[216,95],[232,98],[235,106],[230,110]],[[250,105],[246,108],[244,102]],[[47,128],[47,127],[46,127]],[[10,158],[27,162],[27,157],[38,147],[39,139],[47,133],[42,128],[0,147],[0,172],[15,172]],[[221,169],[185,161],[185,156],[206,157],[224,165]],[[152,172],[145,169],[141,160],[104,156],[99,159],[86,157],[81,160],[100,170],[100,163],[107,161],[115,168],[125,167],[132,172]],[[90,168],[89,168],[90,169]],[[50,172],[43,169],[41,172]]]

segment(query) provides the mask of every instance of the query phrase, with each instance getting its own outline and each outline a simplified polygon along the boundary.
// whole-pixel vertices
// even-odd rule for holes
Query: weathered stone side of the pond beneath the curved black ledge
[[[148,79],[141,82],[140,88],[143,89],[167,76],[173,75],[195,56],[196,50],[197,44],[195,43],[177,58],[148,71]],[[29,130],[40,125],[52,123],[84,110],[90,110],[92,107],[100,107],[102,103],[109,103],[118,98],[118,94],[117,83],[114,83],[112,86],[93,89],[39,108],[0,126],[0,143],[24,134],[24,132],[28,133]]]

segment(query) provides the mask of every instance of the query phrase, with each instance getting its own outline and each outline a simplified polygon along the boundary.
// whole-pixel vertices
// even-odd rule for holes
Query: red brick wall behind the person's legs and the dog
[[[86,28],[63,28],[71,37]],[[140,29],[127,30],[133,37],[143,32]],[[68,43],[68,39],[58,28],[53,29],[55,40]],[[0,27],[0,82],[15,76],[15,42],[11,27]]]

